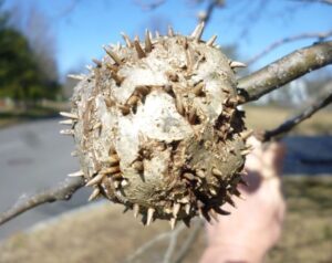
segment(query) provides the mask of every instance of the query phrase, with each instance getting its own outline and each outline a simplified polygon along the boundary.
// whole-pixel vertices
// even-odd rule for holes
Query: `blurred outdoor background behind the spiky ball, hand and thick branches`
[[[72,138],[61,137],[58,125],[58,113],[70,108],[75,85],[68,74],[86,74],[91,60],[104,55],[103,44],[123,43],[120,32],[142,39],[146,28],[165,34],[172,25],[189,34],[201,20],[205,40],[217,34],[222,52],[248,64],[239,76],[332,39],[330,0],[0,0],[0,212],[77,170],[70,156]],[[274,128],[331,83],[330,65],[246,105],[248,126]],[[289,211],[268,262],[332,262],[331,134],[328,106],[283,139]],[[87,197],[82,189],[68,202],[41,206],[1,225],[0,262],[96,262],[103,256],[122,262],[168,229],[163,222],[143,229],[108,202],[86,208]],[[45,221],[84,206],[89,215],[79,210]],[[46,223],[24,231],[38,222]],[[123,249],[116,250],[120,244]],[[165,245],[142,262],[158,262]],[[204,245],[200,233],[184,262],[196,262]]]

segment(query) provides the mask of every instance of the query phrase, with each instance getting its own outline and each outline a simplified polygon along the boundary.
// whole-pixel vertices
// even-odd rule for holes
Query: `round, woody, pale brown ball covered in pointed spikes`
[[[229,214],[221,206],[240,198],[250,152],[234,76],[246,65],[203,32],[204,23],[188,36],[146,30],[144,42],[122,33],[126,46],[103,46],[106,56],[93,59],[89,75],[69,75],[80,83],[72,112],[60,113],[71,126],[61,134],[74,136],[82,170],[69,176],[85,178],[89,201],[105,197],[146,225],[165,219],[172,229]],[[179,50],[184,60],[173,56]]]

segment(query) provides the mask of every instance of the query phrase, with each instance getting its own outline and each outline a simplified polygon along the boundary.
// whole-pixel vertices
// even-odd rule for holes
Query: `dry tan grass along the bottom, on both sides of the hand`
[[[284,177],[283,183],[288,212],[282,239],[266,262],[332,262],[332,177]],[[143,228],[122,210],[106,202],[19,233],[0,246],[0,262],[124,262],[136,248],[169,229],[160,221]],[[156,242],[135,262],[162,262],[167,244]],[[197,262],[205,245],[201,231],[184,263]]]

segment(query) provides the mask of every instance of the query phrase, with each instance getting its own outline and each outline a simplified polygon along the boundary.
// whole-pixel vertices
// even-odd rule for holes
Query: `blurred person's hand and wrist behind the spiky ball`
[[[258,263],[281,234],[286,204],[281,194],[280,169],[284,148],[277,143],[262,146],[250,138],[253,151],[247,157],[248,188],[237,208],[225,206],[229,217],[207,225],[208,248],[200,263]]]

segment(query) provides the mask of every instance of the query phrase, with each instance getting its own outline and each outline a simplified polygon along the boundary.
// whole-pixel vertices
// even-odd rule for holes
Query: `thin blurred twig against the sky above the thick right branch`
[[[280,46],[282,44],[293,42],[293,41],[298,41],[298,40],[303,40],[303,39],[318,39],[318,42],[322,42],[326,38],[330,38],[331,35],[332,35],[332,30],[328,31],[328,32],[303,33],[303,34],[298,34],[298,35],[293,35],[293,36],[289,36],[289,38],[278,40],[278,41],[273,42],[272,44],[270,44],[269,46],[267,46],[261,52],[259,52],[258,54],[253,55],[251,59],[249,59],[246,62],[246,64],[249,65],[249,64],[252,64],[252,63],[257,62],[259,59],[267,55],[272,50],[277,49],[278,46]]]

